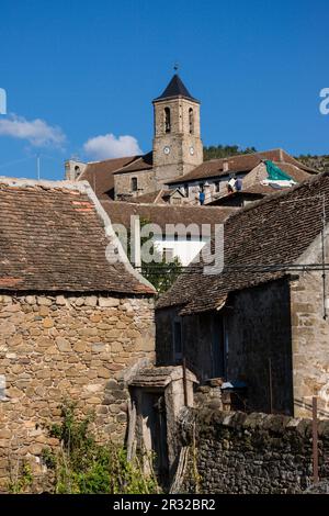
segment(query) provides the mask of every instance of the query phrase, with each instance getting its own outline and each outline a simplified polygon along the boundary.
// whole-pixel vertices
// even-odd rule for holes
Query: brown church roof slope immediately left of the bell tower
[[[114,189],[113,172],[138,159],[139,156],[127,156],[125,158],[90,162],[79,177],[79,181],[88,181],[95,194],[102,195]]]

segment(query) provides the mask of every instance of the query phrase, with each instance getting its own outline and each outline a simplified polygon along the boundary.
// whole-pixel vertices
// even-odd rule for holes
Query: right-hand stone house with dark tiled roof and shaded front
[[[324,172],[230,215],[222,272],[191,266],[158,301],[157,363],[185,358],[248,412],[309,417],[317,395],[328,417],[328,214]]]

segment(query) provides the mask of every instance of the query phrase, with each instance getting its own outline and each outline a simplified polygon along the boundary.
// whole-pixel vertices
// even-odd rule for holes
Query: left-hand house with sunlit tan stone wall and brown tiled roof
[[[122,440],[128,382],[155,357],[152,287],[87,182],[0,179],[0,485],[38,470],[60,403]]]

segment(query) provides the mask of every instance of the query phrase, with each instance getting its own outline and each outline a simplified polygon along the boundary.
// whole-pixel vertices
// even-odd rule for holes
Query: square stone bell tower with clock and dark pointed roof
[[[157,188],[203,162],[200,101],[175,74],[163,93],[152,101],[155,113],[154,170]]]

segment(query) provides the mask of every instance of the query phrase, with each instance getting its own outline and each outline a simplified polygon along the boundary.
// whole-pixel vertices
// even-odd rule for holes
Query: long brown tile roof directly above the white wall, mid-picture
[[[222,224],[234,207],[182,206],[172,204],[137,204],[123,201],[102,201],[113,224],[131,227],[131,216],[139,215],[149,223],[158,224],[162,231],[166,224]]]

